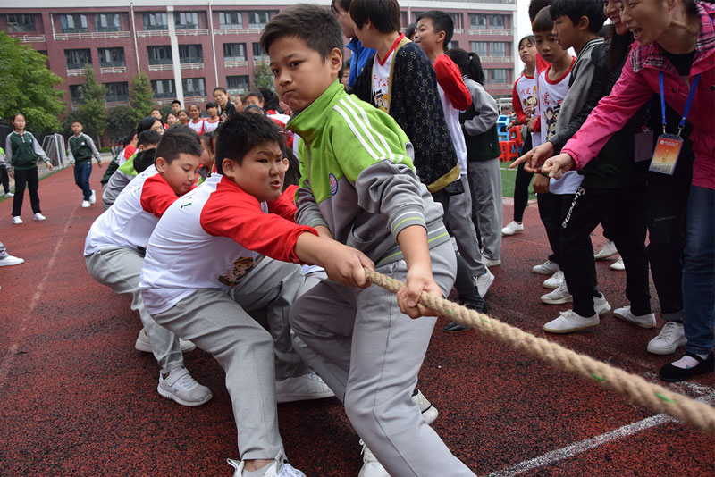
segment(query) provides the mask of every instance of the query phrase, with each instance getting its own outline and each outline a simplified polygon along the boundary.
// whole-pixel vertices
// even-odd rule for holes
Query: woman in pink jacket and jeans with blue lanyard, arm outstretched
[[[715,5],[699,0],[630,0],[621,7],[621,20],[638,45],[610,96],[601,99],[562,154],[546,160],[542,171],[559,178],[584,167],[653,93],[683,114],[680,126],[685,119],[691,122],[695,161],[683,270],[686,354],[660,368],[663,381],[683,381],[715,371]],[[677,138],[659,138],[659,146],[663,140],[677,143]],[[669,164],[668,155],[677,154],[674,149],[668,154],[656,149],[651,169],[669,173],[663,167]]]

